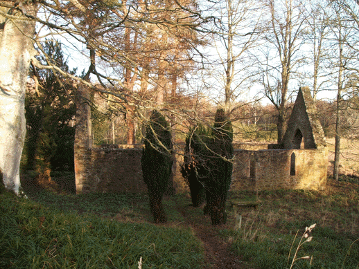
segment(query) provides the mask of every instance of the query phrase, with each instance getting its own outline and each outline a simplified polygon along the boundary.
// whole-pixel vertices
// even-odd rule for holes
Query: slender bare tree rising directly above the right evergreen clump
[[[224,88],[224,108],[231,111],[231,103],[249,89],[254,81],[249,50],[257,46],[260,33],[261,9],[252,1],[227,0],[220,2],[218,21],[213,24],[218,63],[211,59],[211,66],[220,67],[220,86]]]

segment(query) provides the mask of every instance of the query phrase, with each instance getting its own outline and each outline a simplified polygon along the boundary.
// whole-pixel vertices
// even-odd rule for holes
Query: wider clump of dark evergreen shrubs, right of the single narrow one
[[[201,205],[206,198],[204,214],[211,216],[213,225],[227,220],[225,203],[233,169],[232,140],[232,125],[223,109],[217,110],[212,129],[198,126],[186,139],[182,175],[189,183],[193,205]]]

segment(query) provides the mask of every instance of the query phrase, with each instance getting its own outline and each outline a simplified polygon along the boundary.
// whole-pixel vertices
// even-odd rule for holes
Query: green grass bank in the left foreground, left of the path
[[[202,246],[190,228],[121,223],[116,216],[108,219],[75,211],[91,203],[110,205],[109,196],[90,196],[86,206],[73,205],[71,210],[55,209],[57,199],[69,197],[42,194],[51,204],[46,207],[30,199],[0,195],[0,268],[138,268],[140,258],[142,268],[201,267]],[[79,197],[76,203],[84,200]]]

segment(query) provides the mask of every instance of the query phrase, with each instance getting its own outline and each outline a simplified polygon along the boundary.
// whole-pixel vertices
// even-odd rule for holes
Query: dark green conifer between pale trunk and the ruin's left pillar
[[[43,64],[55,62],[69,71],[60,43],[45,41],[42,49],[48,56],[39,57]],[[51,168],[73,168],[73,88],[71,82],[48,69],[31,68],[30,75],[37,78],[38,86],[26,94],[26,169],[35,169],[40,179],[51,180]]]

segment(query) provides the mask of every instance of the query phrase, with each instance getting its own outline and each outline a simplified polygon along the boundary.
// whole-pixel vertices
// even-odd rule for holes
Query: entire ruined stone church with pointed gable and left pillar
[[[94,147],[89,136],[91,115],[78,101],[75,141],[76,193],[146,192],[142,179],[141,147]],[[177,160],[178,161],[178,160]],[[308,87],[299,89],[281,145],[268,149],[234,151],[231,190],[323,189],[326,185],[328,147]],[[175,172],[173,187],[188,187]]]

